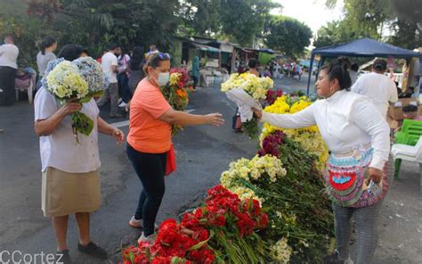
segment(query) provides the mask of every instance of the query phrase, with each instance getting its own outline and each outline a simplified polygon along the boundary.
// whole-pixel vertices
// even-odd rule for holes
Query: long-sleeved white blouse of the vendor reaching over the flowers
[[[316,124],[335,155],[370,144],[374,155],[369,167],[383,169],[388,161],[390,128],[370,99],[363,95],[338,91],[295,114],[263,111],[261,120],[280,128],[306,128]]]

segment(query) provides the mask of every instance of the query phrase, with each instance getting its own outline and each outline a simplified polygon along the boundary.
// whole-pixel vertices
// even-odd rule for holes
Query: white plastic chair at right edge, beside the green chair
[[[419,137],[415,146],[408,144],[394,144],[391,153],[395,161],[394,177],[399,177],[402,161],[418,162],[420,174],[420,192],[422,192],[422,136]]]

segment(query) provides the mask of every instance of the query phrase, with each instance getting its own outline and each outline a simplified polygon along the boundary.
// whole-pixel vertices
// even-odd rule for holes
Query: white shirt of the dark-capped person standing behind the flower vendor
[[[360,95],[367,95],[385,119],[388,102],[394,103],[399,100],[394,81],[384,74],[376,72],[367,73],[358,78],[352,91]]]

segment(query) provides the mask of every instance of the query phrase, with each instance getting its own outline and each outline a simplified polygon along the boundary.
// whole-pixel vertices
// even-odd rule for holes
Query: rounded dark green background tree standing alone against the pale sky
[[[264,40],[268,47],[288,56],[304,54],[311,44],[312,30],[303,22],[285,16],[272,16],[264,27]]]

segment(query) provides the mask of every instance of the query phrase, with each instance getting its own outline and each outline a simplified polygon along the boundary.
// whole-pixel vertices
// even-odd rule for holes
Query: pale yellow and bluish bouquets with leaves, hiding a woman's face
[[[88,103],[94,96],[101,96],[107,85],[101,64],[91,57],[74,62],[55,60],[48,64],[45,73],[43,85],[60,103]],[[78,134],[89,136],[93,131],[93,120],[85,113],[77,111],[71,114],[71,120],[77,143]]]

